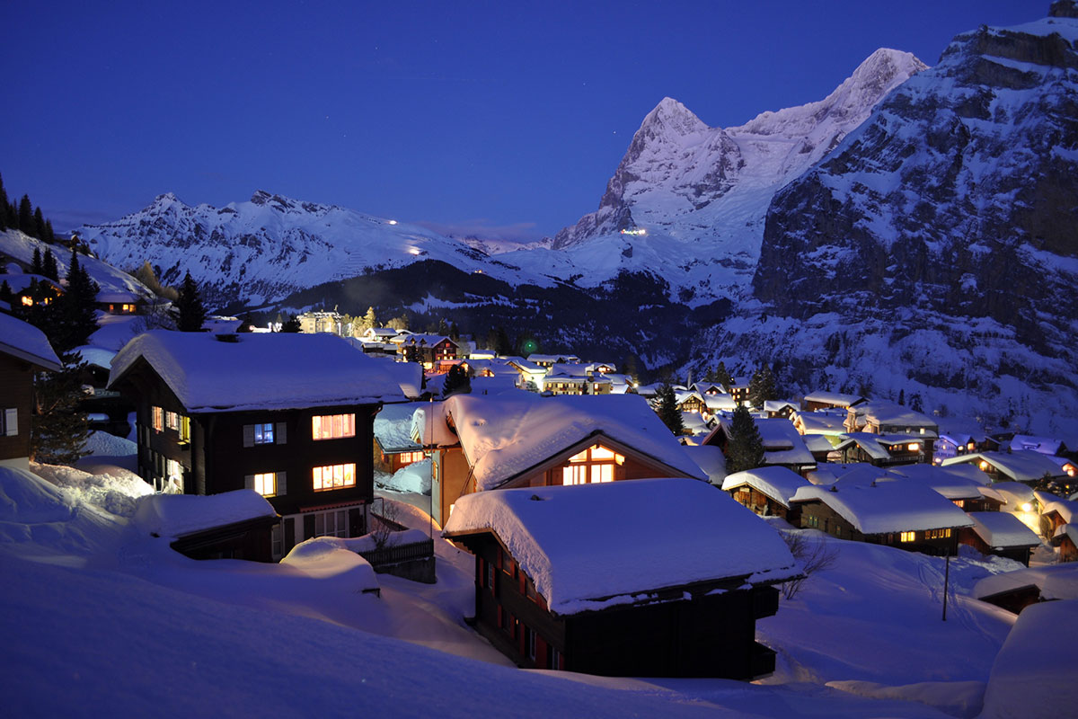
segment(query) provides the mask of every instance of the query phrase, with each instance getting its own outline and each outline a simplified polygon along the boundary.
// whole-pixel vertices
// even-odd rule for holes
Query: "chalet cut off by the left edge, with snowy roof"
[[[0,313],[0,467],[29,468],[33,373],[61,369],[44,332]]]

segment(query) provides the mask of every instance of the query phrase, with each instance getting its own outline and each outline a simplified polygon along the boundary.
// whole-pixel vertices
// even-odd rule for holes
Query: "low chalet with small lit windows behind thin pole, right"
[[[790,499],[794,504],[801,508],[802,528],[926,554],[956,554],[958,530],[973,525],[938,493],[911,482],[810,485],[797,490]]]

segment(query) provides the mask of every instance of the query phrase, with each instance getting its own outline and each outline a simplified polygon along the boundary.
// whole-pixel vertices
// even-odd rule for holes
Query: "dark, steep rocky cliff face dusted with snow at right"
[[[775,195],[755,303],[699,344],[993,421],[1073,415],[1076,41],[1065,17],[955,38]]]

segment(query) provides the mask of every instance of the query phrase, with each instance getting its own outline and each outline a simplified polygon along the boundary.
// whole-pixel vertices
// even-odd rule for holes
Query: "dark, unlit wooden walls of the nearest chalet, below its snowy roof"
[[[775,653],[756,641],[756,620],[778,609],[773,586],[740,589],[745,578],[731,578],[664,587],[639,604],[558,616],[494,534],[455,539],[475,554],[476,630],[517,666],[745,680],[774,672]],[[725,591],[710,593],[717,589]]]

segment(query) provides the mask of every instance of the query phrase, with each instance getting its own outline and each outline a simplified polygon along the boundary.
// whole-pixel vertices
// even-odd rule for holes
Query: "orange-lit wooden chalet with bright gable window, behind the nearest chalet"
[[[706,481],[644,398],[456,395],[417,411],[434,460],[434,521],[462,495],[677,476]]]

